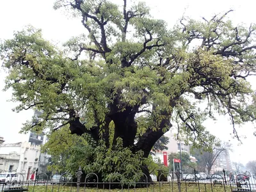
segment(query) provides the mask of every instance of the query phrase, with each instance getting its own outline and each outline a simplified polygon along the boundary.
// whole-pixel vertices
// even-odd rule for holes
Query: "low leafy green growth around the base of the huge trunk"
[[[143,152],[132,154],[129,148],[122,147],[122,139],[117,141],[110,149],[104,143],[95,143],[88,134],[77,136],[70,134],[68,127],[63,127],[49,135],[49,141],[42,150],[51,156],[52,164],[48,169],[53,172],[76,175],[77,168],[81,166],[85,174],[97,173],[102,181],[113,180],[113,174],[122,173],[125,178],[122,182],[132,182],[134,175],[141,174],[141,164],[151,168],[154,163],[150,158],[143,158]]]

